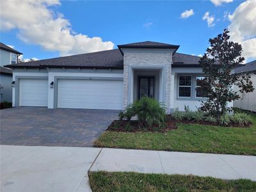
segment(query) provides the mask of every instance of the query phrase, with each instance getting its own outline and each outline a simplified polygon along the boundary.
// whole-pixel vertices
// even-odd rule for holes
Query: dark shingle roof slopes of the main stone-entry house
[[[159,44],[156,42],[140,42],[135,44]],[[127,44],[129,45],[129,44]],[[169,46],[170,44],[165,44]],[[175,52],[173,54],[173,67],[199,67],[200,57],[189,54]],[[10,68],[124,68],[124,58],[118,49],[108,51],[91,52],[86,54],[77,54],[74,56],[65,56],[47,60],[29,61],[26,63],[17,63],[14,65],[5,65]]]

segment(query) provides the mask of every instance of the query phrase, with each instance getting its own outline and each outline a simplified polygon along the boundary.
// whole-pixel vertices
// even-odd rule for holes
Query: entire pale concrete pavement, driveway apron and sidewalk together
[[[256,156],[1,145],[0,191],[91,191],[88,171],[98,170],[256,181]]]

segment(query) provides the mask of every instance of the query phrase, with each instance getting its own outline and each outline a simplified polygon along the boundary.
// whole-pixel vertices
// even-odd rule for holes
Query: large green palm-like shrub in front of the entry
[[[131,120],[132,116],[138,116],[138,120],[150,127],[158,125],[163,127],[165,122],[165,106],[157,100],[142,97],[140,100],[130,104],[119,117]]]

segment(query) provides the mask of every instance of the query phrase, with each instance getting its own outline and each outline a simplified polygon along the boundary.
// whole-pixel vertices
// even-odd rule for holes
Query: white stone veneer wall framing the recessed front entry
[[[131,68],[161,68],[163,70],[163,98],[159,99],[166,103],[170,109],[170,90],[172,72],[172,53],[171,49],[122,49],[124,52],[124,108],[128,106],[132,98],[129,89],[132,90],[133,84],[129,84],[132,78]],[[160,81],[162,81],[160,79]]]

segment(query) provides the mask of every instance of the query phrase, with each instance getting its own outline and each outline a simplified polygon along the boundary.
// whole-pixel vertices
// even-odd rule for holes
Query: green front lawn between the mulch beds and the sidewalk
[[[250,115],[253,124],[246,128],[177,124],[166,133],[106,131],[95,146],[255,156],[256,115]]]

